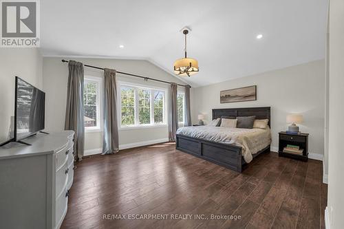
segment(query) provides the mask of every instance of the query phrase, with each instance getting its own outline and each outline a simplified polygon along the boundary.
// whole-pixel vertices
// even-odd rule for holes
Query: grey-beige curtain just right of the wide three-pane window
[[[177,84],[171,83],[169,100],[169,140],[175,142],[175,132],[178,129],[177,114]]]

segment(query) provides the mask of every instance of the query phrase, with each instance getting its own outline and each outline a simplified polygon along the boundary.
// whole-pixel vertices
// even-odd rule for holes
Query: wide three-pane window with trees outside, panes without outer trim
[[[166,92],[140,86],[120,85],[121,127],[166,124]]]

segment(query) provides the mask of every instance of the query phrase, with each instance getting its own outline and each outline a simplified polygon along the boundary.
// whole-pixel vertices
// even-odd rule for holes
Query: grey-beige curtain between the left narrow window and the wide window
[[[116,70],[104,69],[103,154],[118,153]]]

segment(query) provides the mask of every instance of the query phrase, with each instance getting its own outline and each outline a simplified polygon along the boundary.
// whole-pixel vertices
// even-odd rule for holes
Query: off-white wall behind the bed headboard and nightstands
[[[195,76],[196,77],[196,76]],[[211,77],[211,76],[209,76]],[[278,147],[278,133],[288,129],[288,113],[302,113],[300,130],[310,133],[309,151],[314,158],[323,156],[325,61],[314,61],[254,76],[228,80],[193,90],[193,120],[205,113],[211,120],[211,109],[230,107],[271,107],[272,149]],[[220,104],[219,92],[257,85],[257,101]],[[196,99],[197,98],[197,99]]]

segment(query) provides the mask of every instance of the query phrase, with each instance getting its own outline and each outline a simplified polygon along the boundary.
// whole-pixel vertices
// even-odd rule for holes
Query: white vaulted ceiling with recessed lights
[[[198,87],[324,58],[326,12],[327,0],[44,0],[41,50],[148,59],[173,74],[189,26],[200,72],[184,79]]]

